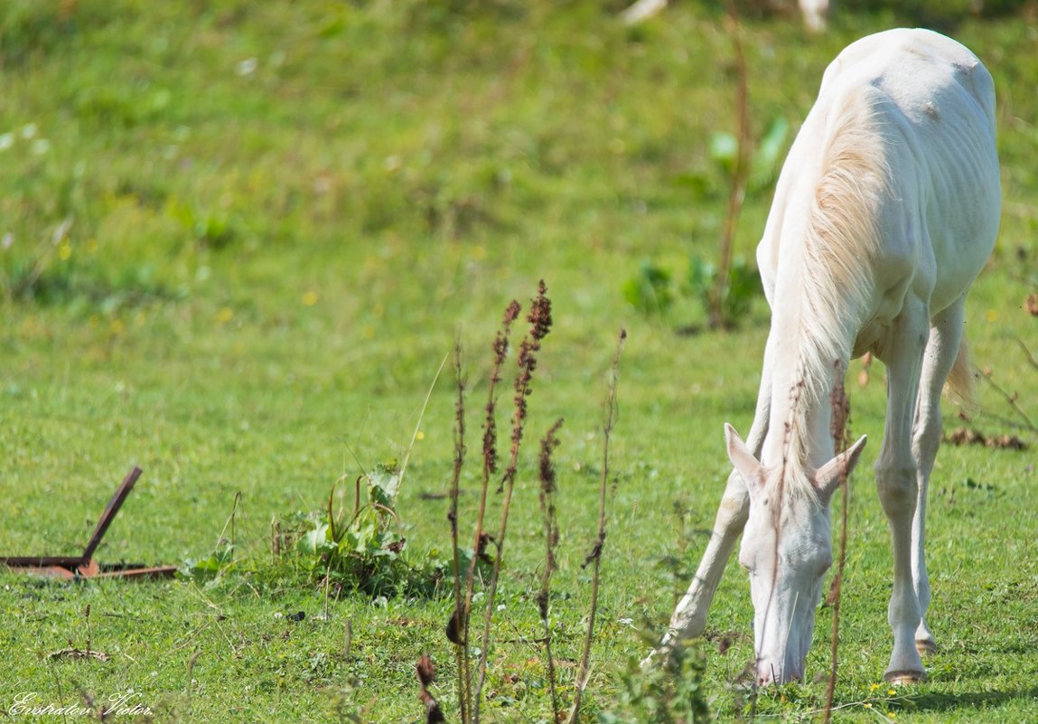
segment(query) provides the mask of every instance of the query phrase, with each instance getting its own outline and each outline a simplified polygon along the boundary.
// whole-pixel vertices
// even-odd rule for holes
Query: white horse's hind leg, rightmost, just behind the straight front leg
[[[912,434],[912,453],[918,465],[919,492],[911,528],[912,584],[919,598],[920,623],[916,629],[916,648],[923,655],[937,650],[937,644],[926,625],[926,612],[930,606],[930,581],[926,572],[926,499],[933,471],[933,461],[940,446],[940,391],[952,368],[959,360],[965,363],[962,349],[963,299],[941,312],[932,321],[930,339],[923,355],[919,402],[916,407],[916,428]]]

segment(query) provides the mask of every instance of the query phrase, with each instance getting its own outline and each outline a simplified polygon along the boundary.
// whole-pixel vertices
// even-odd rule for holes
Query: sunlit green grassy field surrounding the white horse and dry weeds
[[[596,535],[602,404],[622,327],[584,720],[645,717],[630,663],[705,543],[729,470],[722,423],[749,426],[767,309],[757,299],[736,331],[689,334],[676,330],[705,315],[688,295],[655,314],[625,299],[645,262],[677,284],[690,256],[714,253],[728,181],[709,139],[734,131],[736,76],[715,11],[675,3],[628,29],[623,5],[0,5],[0,553],[78,553],[137,463],[144,475],[98,558],[204,559],[226,549],[219,540],[241,493],[236,563],[215,581],[0,573],[0,710],[53,720],[12,706],[28,694],[55,707],[122,695],[155,721],[416,722],[413,667],[428,652],[440,667],[433,693],[457,721],[443,636],[453,601],[345,590],[326,602],[303,557],[271,562],[271,521],[321,509],[340,477],[402,460],[417,427],[398,499],[406,553],[445,555],[449,368],[422,412],[426,395],[460,339],[468,531],[490,341],[509,300],[528,305],[544,278],[554,326],[529,398],[485,718],[551,721],[534,643],[544,546],[536,441],[558,417],[551,623],[572,697],[590,590],[580,564]],[[1035,421],[1038,371],[1016,342],[1038,351],[1038,320],[1022,309],[1038,288],[1034,16],[852,9],[820,37],[792,19],[748,17],[750,125],[758,137],[775,119],[797,128],[843,46],[920,22],[974,49],[995,79],[1005,210],[967,332],[978,366]],[[770,200],[763,177],[736,239],[749,259]],[[837,721],[1038,721],[1038,437],[979,386],[973,425],[1032,447],[938,455],[928,554],[940,650],[927,683],[891,695],[877,686],[891,563],[871,476],[883,379],[876,365],[862,386],[861,372],[852,365],[852,428],[873,441],[851,486]],[[962,424],[955,412],[949,405],[946,427]],[[293,620],[298,612],[305,618]],[[830,616],[819,612],[809,682],[762,692],[758,719],[819,718]],[[750,714],[732,686],[753,655],[750,617],[733,563],[704,644],[702,696],[720,721]],[[50,656],[87,646],[110,660]]]

